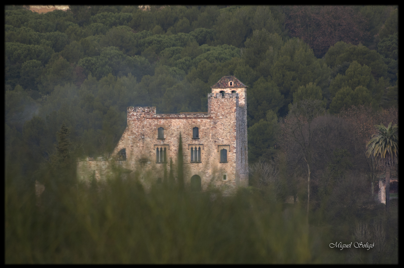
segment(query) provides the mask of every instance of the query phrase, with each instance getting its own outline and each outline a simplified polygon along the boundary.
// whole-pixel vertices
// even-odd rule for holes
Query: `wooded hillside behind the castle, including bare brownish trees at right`
[[[8,183],[34,189],[36,180],[54,176],[43,175],[47,168],[73,178],[77,157],[109,156],[126,127],[127,106],[206,112],[210,86],[234,75],[248,86],[251,191],[306,204],[310,166],[310,215],[318,225],[346,220],[351,225],[338,231],[346,235],[355,219],[371,217],[362,210],[383,169],[365,156],[366,143],[374,125],[398,123],[398,6],[4,12]],[[301,136],[292,135],[298,130]],[[266,181],[263,172],[271,173]],[[353,183],[354,176],[363,178]],[[397,257],[389,239],[390,251],[379,249],[369,262]]]

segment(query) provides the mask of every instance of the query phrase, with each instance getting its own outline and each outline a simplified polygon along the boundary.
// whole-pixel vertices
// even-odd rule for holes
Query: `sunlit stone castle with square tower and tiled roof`
[[[248,186],[247,86],[224,76],[211,88],[208,112],[156,114],[156,107],[128,107],[127,126],[112,157],[78,161],[78,178],[103,180],[116,165],[140,172],[146,189],[161,183],[170,158],[174,166],[177,162],[181,133],[186,189],[232,193]]]

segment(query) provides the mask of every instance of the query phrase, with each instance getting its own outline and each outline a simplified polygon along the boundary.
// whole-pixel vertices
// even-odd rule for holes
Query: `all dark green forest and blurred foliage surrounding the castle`
[[[6,262],[397,262],[397,207],[373,202],[384,171],[365,154],[373,125],[397,123],[396,6],[6,6],[4,30]],[[248,85],[248,191],[72,186],[127,106],[206,111],[223,75]],[[327,248],[353,236],[385,244]]]

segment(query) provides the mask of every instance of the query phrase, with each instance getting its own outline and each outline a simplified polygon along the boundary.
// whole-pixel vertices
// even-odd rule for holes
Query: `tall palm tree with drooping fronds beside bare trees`
[[[368,142],[367,157],[375,158],[376,164],[386,168],[386,209],[389,209],[390,199],[390,167],[397,165],[398,160],[398,125],[386,128],[382,125],[375,125],[378,129],[376,134]]]

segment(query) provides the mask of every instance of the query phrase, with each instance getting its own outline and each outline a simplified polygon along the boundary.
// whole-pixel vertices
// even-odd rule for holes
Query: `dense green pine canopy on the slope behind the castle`
[[[250,157],[258,159],[277,135],[268,114],[283,118],[296,101],[321,100],[330,112],[396,102],[397,7],[327,8],[340,22],[345,11],[353,16],[332,42],[322,30],[316,37],[304,32],[330,19],[321,8],[70,6],[38,14],[8,6],[6,125],[24,131],[33,156],[52,153],[63,122],[80,154],[107,154],[125,127],[127,106],[206,111],[210,86],[235,75],[248,85],[248,135],[267,133],[267,141],[252,138]],[[293,24],[307,16],[317,24]],[[362,24],[350,32],[355,21]],[[349,39],[359,29],[362,41]],[[320,37],[329,44],[313,41]]]

